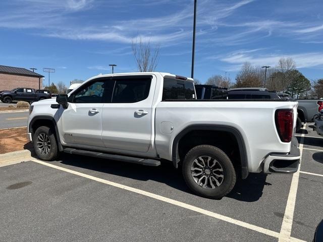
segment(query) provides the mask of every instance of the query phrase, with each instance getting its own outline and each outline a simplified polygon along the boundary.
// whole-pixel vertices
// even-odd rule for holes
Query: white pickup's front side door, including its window
[[[98,78],[71,94],[69,106],[61,118],[65,143],[87,148],[104,147],[101,139],[102,107],[105,100],[111,100],[112,89],[106,78]]]

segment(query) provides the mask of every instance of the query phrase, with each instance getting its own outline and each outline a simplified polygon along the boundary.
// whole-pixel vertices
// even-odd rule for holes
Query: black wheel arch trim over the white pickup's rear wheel
[[[239,151],[240,151],[240,162],[241,162],[241,176],[242,179],[247,178],[249,174],[248,170],[248,156],[247,156],[247,149],[244,142],[244,139],[238,129],[232,126],[227,125],[190,125],[184,128],[181,132],[179,132],[174,141],[172,146],[172,160],[173,165],[177,168],[179,163],[179,152],[178,152],[178,144],[179,141],[189,132],[194,130],[211,130],[211,131],[224,131],[229,132],[234,135],[237,140]]]

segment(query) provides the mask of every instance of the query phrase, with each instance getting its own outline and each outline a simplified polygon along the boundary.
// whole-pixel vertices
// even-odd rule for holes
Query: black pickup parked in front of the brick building
[[[34,102],[50,97],[50,93],[36,92],[33,88],[25,87],[19,87],[11,91],[0,92],[0,100],[6,103],[12,103],[12,101]]]

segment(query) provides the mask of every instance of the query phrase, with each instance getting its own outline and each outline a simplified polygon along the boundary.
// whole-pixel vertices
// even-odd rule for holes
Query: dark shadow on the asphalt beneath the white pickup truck
[[[151,167],[69,154],[62,154],[60,160],[61,163],[65,165],[106,174],[127,177],[139,181],[154,180],[185,193],[193,194],[186,186],[181,170],[175,169],[174,166],[168,162],[163,162],[158,167]],[[106,178],[104,175],[100,176],[95,174],[94,176]],[[271,184],[266,183],[265,174],[251,173],[247,179],[238,179],[236,186],[227,197],[244,202],[255,202],[262,196],[263,187],[269,185]]]

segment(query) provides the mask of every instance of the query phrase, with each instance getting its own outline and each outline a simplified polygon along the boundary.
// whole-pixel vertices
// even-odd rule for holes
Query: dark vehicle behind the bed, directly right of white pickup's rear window
[[[228,88],[214,85],[195,85],[197,99],[227,99]]]

